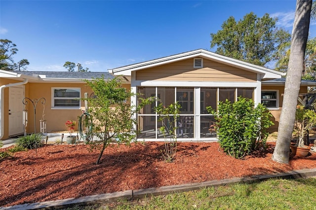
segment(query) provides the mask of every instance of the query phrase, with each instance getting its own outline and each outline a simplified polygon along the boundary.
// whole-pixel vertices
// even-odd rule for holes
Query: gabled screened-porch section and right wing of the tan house
[[[206,107],[216,110],[218,101],[234,102],[238,96],[266,105],[275,122],[271,129],[277,130],[285,84],[282,72],[203,49],[119,67],[110,72],[130,78],[134,93],[156,96],[163,105],[180,103],[178,140],[216,140],[216,133],[211,129],[215,120]],[[302,80],[300,93],[307,93],[307,87],[315,85],[315,81]],[[136,104],[137,98],[132,98],[131,103]],[[163,139],[159,131],[161,123],[152,106],[148,105],[137,115],[141,130],[139,140]]]

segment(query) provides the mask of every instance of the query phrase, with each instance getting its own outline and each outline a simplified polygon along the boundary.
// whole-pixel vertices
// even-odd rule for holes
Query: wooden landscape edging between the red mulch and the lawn
[[[243,178],[230,178],[223,180],[203,181],[198,183],[171,185],[163,187],[154,187],[139,190],[126,190],[114,193],[105,193],[99,195],[85,196],[82,198],[69,198],[56,201],[46,201],[33,204],[23,204],[10,207],[0,207],[0,210],[36,210],[36,209],[62,209],[72,206],[86,206],[100,203],[111,203],[118,200],[137,200],[150,196],[166,195],[175,192],[186,192],[198,190],[204,187],[213,187],[219,185],[236,184],[236,183],[251,183],[259,182],[272,178],[307,178],[316,176],[316,169],[303,169],[291,171],[288,173],[281,173],[275,175],[257,175]]]

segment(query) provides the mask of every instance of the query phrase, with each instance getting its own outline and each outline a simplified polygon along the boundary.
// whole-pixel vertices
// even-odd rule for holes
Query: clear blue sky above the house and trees
[[[66,61],[107,71],[195,49],[230,16],[278,17],[291,33],[296,0],[0,0],[0,38],[28,70],[65,71]],[[316,36],[316,21],[310,37]]]

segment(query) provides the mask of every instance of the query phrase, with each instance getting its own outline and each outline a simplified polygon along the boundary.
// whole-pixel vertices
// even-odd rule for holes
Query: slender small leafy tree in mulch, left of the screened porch
[[[140,98],[138,105],[126,103],[133,93],[121,87],[121,78],[106,81],[104,77],[92,81],[85,80],[95,97],[85,99],[89,103],[89,114],[93,118],[93,135],[99,140],[90,143],[91,149],[100,149],[100,159],[105,148],[111,143],[129,144],[135,139],[137,119],[135,114],[145,105],[153,103],[154,98]]]

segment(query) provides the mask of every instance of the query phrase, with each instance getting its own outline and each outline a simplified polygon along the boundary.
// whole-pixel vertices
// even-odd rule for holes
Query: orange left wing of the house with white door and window
[[[82,79],[102,74],[113,78],[109,72],[0,70],[0,140],[42,132],[41,119],[46,120],[44,132],[65,131],[66,121],[78,121],[85,109],[84,101],[77,99],[92,94]]]

